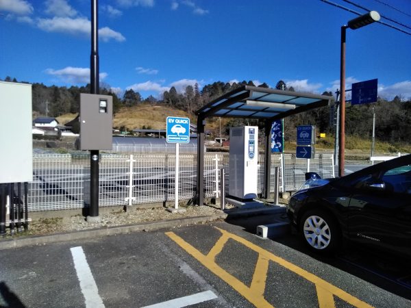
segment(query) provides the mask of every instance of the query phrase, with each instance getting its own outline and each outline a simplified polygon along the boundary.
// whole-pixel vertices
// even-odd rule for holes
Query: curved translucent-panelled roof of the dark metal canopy
[[[257,118],[277,120],[329,104],[332,97],[302,92],[241,86],[197,110],[208,118]]]

